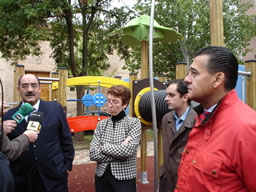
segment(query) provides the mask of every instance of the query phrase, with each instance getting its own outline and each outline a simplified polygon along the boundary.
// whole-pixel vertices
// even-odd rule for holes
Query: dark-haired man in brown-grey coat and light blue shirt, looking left
[[[177,182],[181,154],[195,123],[196,112],[188,99],[188,87],[181,79],[168,82],[165,101],[171,112],[165,114],[161,127],[164,164],[160,167],[159,191],[172,192]]]

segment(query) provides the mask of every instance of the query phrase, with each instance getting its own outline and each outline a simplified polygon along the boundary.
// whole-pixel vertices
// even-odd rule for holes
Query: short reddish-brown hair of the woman
[[[129,104],[131,99],[131,91],[124,85],[113,85],[107,91],[107,94],[114,95],[115,97],[121,97],[122,104]]]

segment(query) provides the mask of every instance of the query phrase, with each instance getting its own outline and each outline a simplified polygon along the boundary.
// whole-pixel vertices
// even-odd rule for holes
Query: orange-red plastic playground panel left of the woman
[[[98,121],[107,119],[107,116],[78,116],[68,117],[68,125],[72,133],[96,129]]]

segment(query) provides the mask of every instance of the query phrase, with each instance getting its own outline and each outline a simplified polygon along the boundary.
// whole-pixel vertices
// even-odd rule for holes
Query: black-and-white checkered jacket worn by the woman
[[[116,179],[136,178],[140,135],[141,123],[137,118],[125,116],[114,124],[111,118],[99,121],[90,144],[90,159],[97,161],[95,174],[101,177],[110,163]],[[127,136],[131,140],[128,144],[122,144]]]

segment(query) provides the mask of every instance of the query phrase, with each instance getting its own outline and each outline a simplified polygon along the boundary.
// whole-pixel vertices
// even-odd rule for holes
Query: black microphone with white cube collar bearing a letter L
[[[33,112],[29,119],[27,130],[33,130],[39,133],[43,119],[44,119],[44,114],[42,112],[40,111]]]

